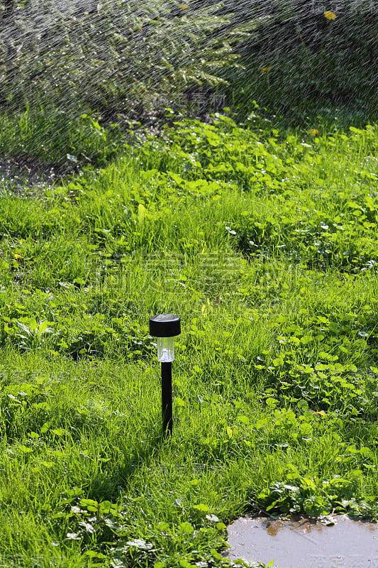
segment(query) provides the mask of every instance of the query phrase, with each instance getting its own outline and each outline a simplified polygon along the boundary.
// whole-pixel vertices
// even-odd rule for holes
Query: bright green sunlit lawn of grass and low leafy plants
[[[5,564],[224,567],[241,513],[376,520],[377,126],[216,114],[112,154],[81,120],[101,168],[2,182]],[[183,328],[170,439],[159,312]]]

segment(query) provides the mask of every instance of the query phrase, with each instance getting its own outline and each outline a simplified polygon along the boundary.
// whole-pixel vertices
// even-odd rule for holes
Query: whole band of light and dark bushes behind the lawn
[[[241,107],[257,99],[291,111],[315,101],[363,114],[378,90],[375,4],[2,0],[0,104],[48,99],[139,118],[187,107],[193,92],[208,110],[216,88]]]

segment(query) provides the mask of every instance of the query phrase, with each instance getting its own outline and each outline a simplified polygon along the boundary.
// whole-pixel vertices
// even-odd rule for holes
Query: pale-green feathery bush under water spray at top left
[[[167,107],[193,84],[226,82],[219,71],[234,64],[230,42],[241,36],[219,7],[105,0],[66,1],[63,10],[54,1],[7,0],[1,95],[12,105],[47,98],[65,107]]]

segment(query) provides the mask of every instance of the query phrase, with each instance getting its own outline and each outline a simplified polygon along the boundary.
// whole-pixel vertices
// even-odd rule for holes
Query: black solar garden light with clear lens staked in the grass
[[[160,314],[150,317],[150,335],[157,337],[157,359],[162,364],[162,427],[172,434],[172,361],[174,336],[181,333],[180,317]]]

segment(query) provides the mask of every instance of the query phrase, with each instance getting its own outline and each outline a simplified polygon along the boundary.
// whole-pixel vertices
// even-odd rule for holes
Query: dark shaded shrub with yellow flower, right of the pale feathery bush
[[[238,9],[233,0],[225,4],[240,21],[252,14],[260,18],[255,33],[237,46],[246,67],[232,78],[234,102],[240,107],[250,107],[256,99],[285,114],[296,107],[300,116],[314,103],[316,110],[336,106],[361,116],[374,113],[376,2],[330,1],[327,8],[316,0],[243,1]]]

